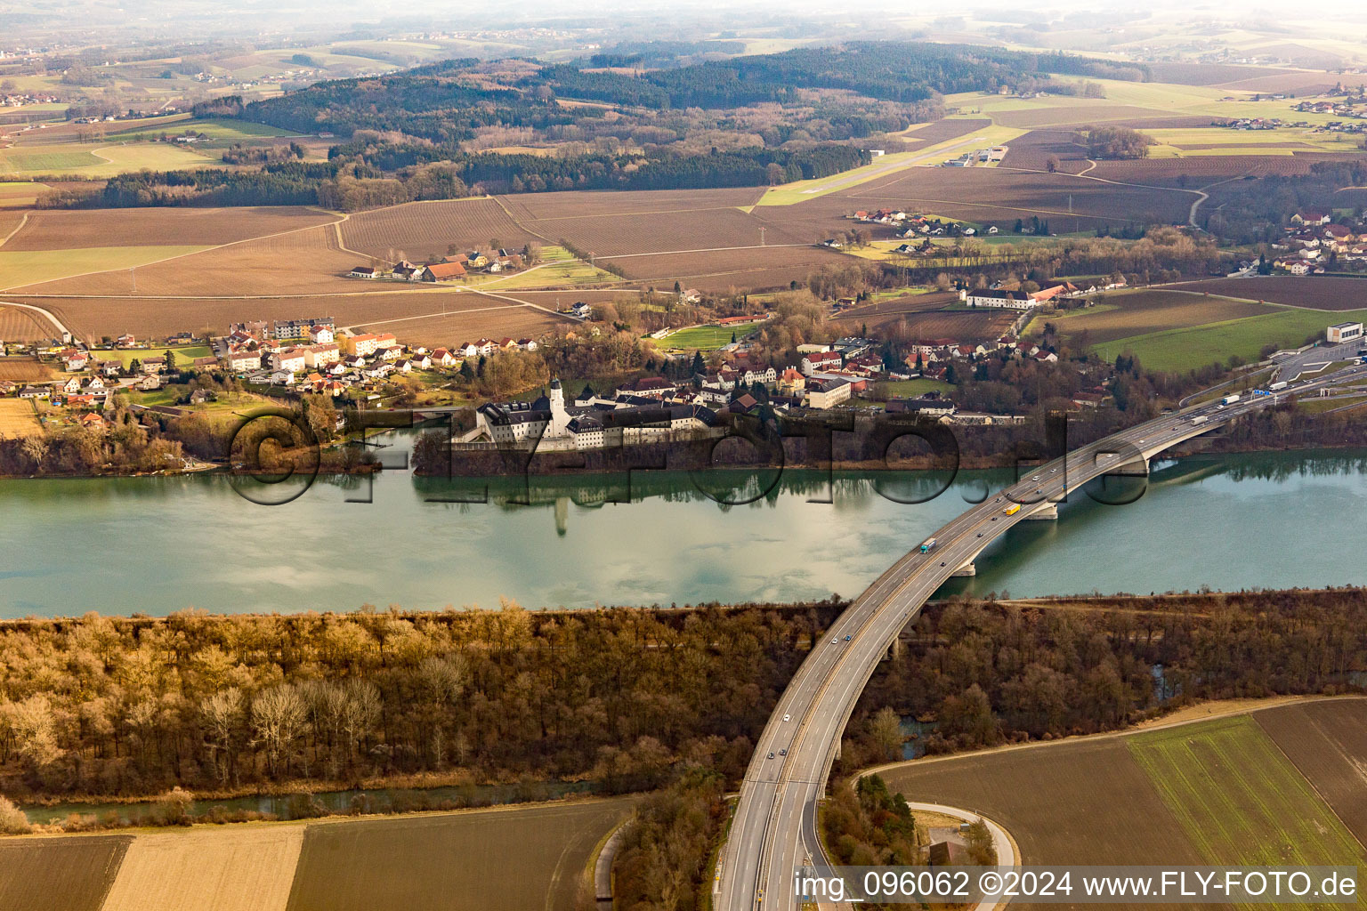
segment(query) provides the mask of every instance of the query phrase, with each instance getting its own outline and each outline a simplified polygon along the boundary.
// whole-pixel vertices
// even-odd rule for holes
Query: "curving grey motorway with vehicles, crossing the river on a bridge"
[[[1141,467],[1163,449],[1255,411],[1290,393],[1318,391],[1345,380],[1367,378],[1356,365],[1293,384],[1275,396],[1244,395],[1222,406],[1208,402],[1166,414],[1069,452],[990,494],[935,533],[936,546],[913,550],[880,575],[831,626],[779,697],[760,735],[741,785],[714,908],[793,911],[793,873],[824,863],[816,835],[816,807],[860,692],[898,632],[960,567],[965,567],[1007,529],[1032,512],[1044,512],[1085,482],[1118,467]],[[1204,418],[1193,423],[1192,418]],[[1014,515],[1003,509],[1021,504]],[[909,795],[915,798],[915,795]]]

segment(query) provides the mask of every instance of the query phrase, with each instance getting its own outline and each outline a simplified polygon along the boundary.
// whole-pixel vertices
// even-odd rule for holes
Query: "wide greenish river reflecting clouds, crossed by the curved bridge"
[[[749,479],[749,496],[770,481]],[[849,597],[1010,474],[964,471],[940,496],[897,501],[945,481],[787,471],[723,505],[701,490],[715,482],[641,471],[495,481],[487,501],[435,503],[484,499],[484,483],[390,470],[373,486],[320,478],[271,507],[221,475],[3,481],[0,617]],[[1021,523],[945,591],[1367,585],[1364,515],[1363,451],[1155,462],[1137,501],[1074,494],[1061,520]]]

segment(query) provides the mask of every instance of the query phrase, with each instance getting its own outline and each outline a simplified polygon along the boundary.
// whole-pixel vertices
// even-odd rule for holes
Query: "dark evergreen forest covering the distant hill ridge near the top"
[[[593,61],[589,61],[591,64]],[[284,130],[399,131],[433,142],[462,141],[481,126],[547,128],[600,119],[601,109],[556,105],[589,98],[652,111],[790,104],[804,90],[838,89],[869,98],[921,102],[953,92],[995,92],[1046,72],[1122,78],[1132,67],[1069,55],[1033,55],[930,42],[860,41],[834,48],[709,60],[626,75],[597,66],[507,67],[491,72],[474,60],[443,60],[399,74],[320,82],[279,98],[254,101],[239,116]],[[1105,72],[1098,72],[1102,70]],[[495,76],[498,81],[491,81]],[[1033,82],[1032,82],[1033,83]],[[219,104],[216,112],[232,111]]]

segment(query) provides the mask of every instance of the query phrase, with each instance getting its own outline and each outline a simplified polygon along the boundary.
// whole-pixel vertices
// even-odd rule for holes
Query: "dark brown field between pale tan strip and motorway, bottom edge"
[[[316,822],[288,911],[573,911],[597,841],[633,798]]]

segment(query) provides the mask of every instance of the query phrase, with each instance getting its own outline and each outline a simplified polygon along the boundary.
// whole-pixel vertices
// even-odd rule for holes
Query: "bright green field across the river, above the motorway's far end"
[[[1117,339],[1095,344],[1091,350],[1106,361],[1131,352],[1150,370],[1181,373],[1217,361],[1223,363],[1232,354],[1244,361],[1258,361],[1266,344],[1275,344],[1278,348],[1300,347],[1307,336],[1322,332],[1330,322],[1359,320],[1367,320],[1367,310],[1329,314],[1321,310],[1282,309],[1280,313]]]

